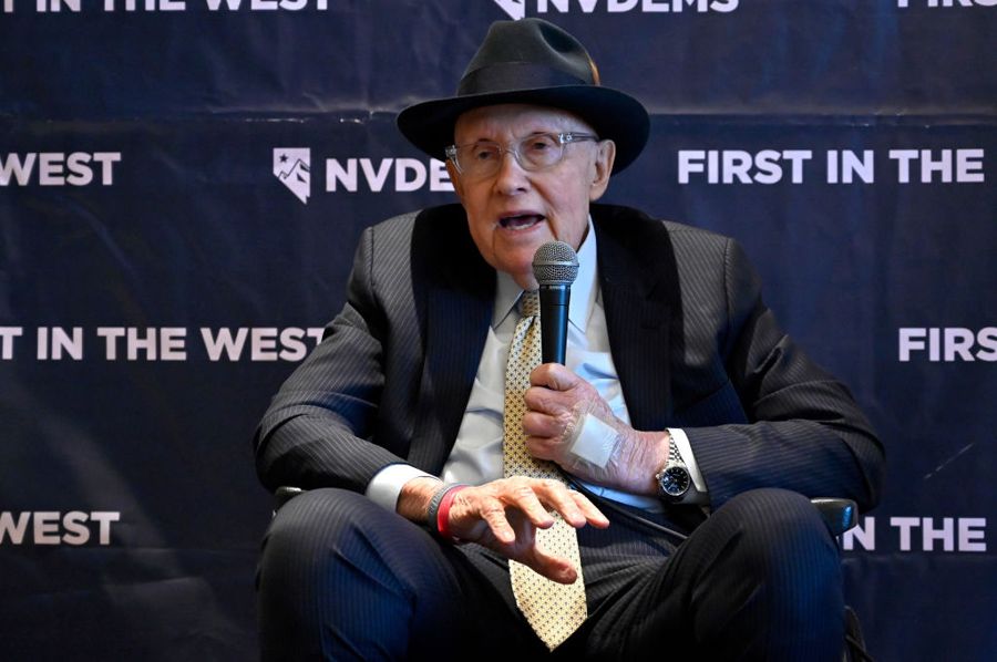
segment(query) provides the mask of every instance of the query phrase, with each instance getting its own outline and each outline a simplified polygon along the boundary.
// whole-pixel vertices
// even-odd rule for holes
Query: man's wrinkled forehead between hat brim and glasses
[[[532,104],[481,106],[458,117],[453,127],[456,144],[472,141],[497,141],[532,133],[594,133],[592,126],[575,113]]]

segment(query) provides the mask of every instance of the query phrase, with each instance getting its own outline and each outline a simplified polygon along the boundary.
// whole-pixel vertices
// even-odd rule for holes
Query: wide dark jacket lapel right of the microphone
[[[671,418],[671,356],[682,355],[682,307],[668,230],[639,211],[593,205],[599,286],[613,361],[630,421],[662,430]]]

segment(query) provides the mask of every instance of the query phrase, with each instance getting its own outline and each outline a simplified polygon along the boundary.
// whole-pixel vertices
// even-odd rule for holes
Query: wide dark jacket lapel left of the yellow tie
[[[424,361],[409,461],[439,473],[453,447],[481,361],[495,272],[474,246],[459,205],[417,217],[412,266]]]

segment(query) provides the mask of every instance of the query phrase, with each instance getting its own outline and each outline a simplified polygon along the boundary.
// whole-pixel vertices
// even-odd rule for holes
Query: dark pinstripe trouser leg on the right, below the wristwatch
[[[592,617],[562,659],[841,659],[839,552],[800,495],[742,493],[677,550],[619,517],[579,540]]]

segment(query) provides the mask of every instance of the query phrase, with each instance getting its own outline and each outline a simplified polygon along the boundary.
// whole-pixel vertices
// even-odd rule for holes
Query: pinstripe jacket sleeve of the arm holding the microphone
[[[708,400],[737,397],[744,421],[683,427],[713,507],[747,489],[782,487],[872,508],[884,451],[868,421],[849,390],[779,328],[731,239],[723,272],[726,324],[716,339],[729,382]]]

